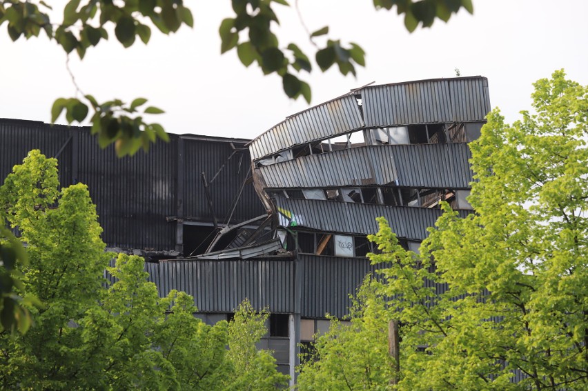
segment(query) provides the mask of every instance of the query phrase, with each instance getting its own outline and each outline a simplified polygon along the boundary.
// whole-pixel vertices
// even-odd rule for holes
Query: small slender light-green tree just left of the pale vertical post
[[[233,376],[224,381],[226,390],[275,390],[286,387],[288,377],[277,372],[275,359],[268,350],[257,350],[255,343],[266,333],[269,312],[256,312],[247,299],[228,323],[227,358]]]

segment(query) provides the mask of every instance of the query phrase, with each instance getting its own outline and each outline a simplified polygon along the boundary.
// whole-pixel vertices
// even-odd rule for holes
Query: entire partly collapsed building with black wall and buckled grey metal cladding
[[[170,134],[124,159],[88,128],[0,119],[0,176],[33,148],[57,157],[61,185],[88,185],[108,248],[146,257],[160,296],[188,292],[208,323],[246,298],[267,308],[260,348],[294,379],[301,346],[378,269],[376,217],[418,250],[440,201],[470,212],[467,143],[489,110],[484,77],[364,86],[253,140]]]

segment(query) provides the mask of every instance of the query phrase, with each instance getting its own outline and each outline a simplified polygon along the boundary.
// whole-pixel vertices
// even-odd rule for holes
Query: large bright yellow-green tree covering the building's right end
[[[395,389],[588,386],[588,88],[562,70],[534,86],[535,113],[493,110],[470,144],[474,213],[445,203],[420,254],[384,219],[370,237],[400,323]]]

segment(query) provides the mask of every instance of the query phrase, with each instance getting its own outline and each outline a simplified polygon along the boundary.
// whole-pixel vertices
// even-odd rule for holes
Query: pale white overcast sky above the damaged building
[[[292,4],[295,0],[290,0]],[[52,1],[57,4],[63,0]],[[244,68],[236,52],[220,54],[218,26],[231,17],[231,1],[190,1],[195,28],[183,26],[164,36],[155,28],[148,46],[138,39],[124,49],[111,34],[89,49],[84,61],[72,56],[70,67],[85,93],[99,101],[145,97],[166,110],[150,116],[168,132],[254,138],[286,116],[308,106],[288,99],[279,77],[252,65]],[[312,105],[375,81],[482,75],[489,79],[492,107],[507,121],[530,108],[531,83],[565,68],[568,77],[588,85],[588,1],[474,0],[473,16],[462,10],[449,23],[409,34],[402,17],[376,12],[371,0],[300,0],[311,31],[329,25],[329,37],[354,41],[366,51],[366,68],[357,78],[315,67],[302,74],[313,88]],[[307,54],[311,46],[294,9],[275,6],[282,23],[282,46],[291,41]],[[12,43],[6,23],[0,30],[0,118],[50,121],[57,97],[75,88],[66,70],[66,54],[41,33],[40,39]],[[58,120],[64,123],[61,118]]]

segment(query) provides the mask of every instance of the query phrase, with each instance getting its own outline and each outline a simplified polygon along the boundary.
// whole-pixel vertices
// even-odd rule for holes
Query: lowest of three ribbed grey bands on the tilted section
[[[346,232],[350,234],[375,234],[378,232],[376,217],[383,216],[398,237],[422,241],[427,228],[432,227],[442,210],[412,208],[409,206],[368,205],[341,201],[313,199],[276,199],[277,208],[292,213],[297,226],[320,232]],[[459,211],[462,217],[467,211]]]

